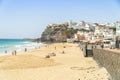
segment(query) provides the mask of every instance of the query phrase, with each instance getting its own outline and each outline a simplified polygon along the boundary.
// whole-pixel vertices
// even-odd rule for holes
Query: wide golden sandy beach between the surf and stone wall
[[[56,56],[45,58],[49,53]],[[54,43],[0,57],[0,80],[109,80],[109,74],[92,57],[83,57],[78,44]]]

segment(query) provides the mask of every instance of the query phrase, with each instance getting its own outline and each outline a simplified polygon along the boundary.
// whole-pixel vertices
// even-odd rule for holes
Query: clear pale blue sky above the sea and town
[[[120,21],[120,0],[0,0],[0,38],[38,38],[48,24]]]

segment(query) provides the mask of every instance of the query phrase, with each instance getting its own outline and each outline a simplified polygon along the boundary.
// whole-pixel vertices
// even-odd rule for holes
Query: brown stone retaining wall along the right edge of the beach
[[[107,69],[112,80],[120,80],[120,53],[94,48],[93,58]]]

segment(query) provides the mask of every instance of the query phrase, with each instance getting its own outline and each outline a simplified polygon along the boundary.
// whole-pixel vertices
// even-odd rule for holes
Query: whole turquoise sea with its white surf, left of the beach
[[[42,43],[33,42],[32,40],[24,39],[0,39],[0,56],[11,54],[16,50],[17,53],[27,50],[37,49],[42,46]]]

